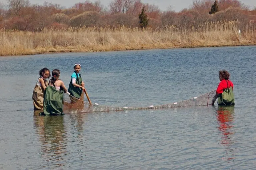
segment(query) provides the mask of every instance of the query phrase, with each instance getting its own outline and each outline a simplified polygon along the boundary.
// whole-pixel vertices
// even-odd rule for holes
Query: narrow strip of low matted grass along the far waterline
[[[165,46],[163,46],[163,44]],[[167,45],[169,44],[169,46]],[[154,50],[154,49],[175,49],[175,48],[202,48],[202,47],[235,47],[235,46],[256,46],[255,42],[220,42],[220,43],[212,43],[212,44],[205,44],[205,45],[192,45],[192,44],[172,44],[172,43],[161,43],[159,45],[154,44],[141,44],[141,47],[126,47],[126,48],[113,48],[109,50],[101,50],[101,48],[92,48],[92,49],[85,49],[83,47],[56,47],[56,48],[39,48],[39,49],[32,49],[31,52],[27,53],[16,53],[16,54],[9,54],[4,55],[0,54],[0,57],[14,57],[14,56],[26,56],[26,55],[39,55],[39,54],[54,54],[54,53],[86,53],[86,52],[109,52],[109,51],[128,51],[128,50]],[[159,46],[159,47],[158,47]]]

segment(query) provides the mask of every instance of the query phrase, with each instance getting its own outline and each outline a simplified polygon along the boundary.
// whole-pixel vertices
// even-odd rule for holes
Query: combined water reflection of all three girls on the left
[[[76,146],[73,153],[80,153],[84,142],[84,124],[87,114],[65,114],[58,116],[39,116],[40,111],[34,112],[34,125],[36,135],[39,137],[40,153],[47,167],[64,166],[70,157],[67,155],[70,143]],[[67,133],[67,128],[72,133]],[[69,136],[69,137],[68,137]],[[69,143],[70,142],[70,143]],[[81,154],[81,153],[80,153]],[[79,158],[82,160],[83,158]]]

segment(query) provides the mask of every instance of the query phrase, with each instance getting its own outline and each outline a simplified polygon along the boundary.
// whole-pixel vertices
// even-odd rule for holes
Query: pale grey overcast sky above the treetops
[[[29,0],[32,4],[43,4],[46,2],[52,2],[60,4],[66,8],[71,7],[75,3],[83,2],[83,0]],[[94,2],[95,0],[91,0]],[[104,5],[104,7],[108,7],[109,3],[112,0],[100,0],[100,2]],[[189,6],[193,3],[193,0],[141,0],[143,3],[155,4],[157,5],[162,11],[169,9],[169,6],[172,6],[172,10],[176,12],[184,9],[189,8]],[[0,2],[6,4],[6,0],[0,0]],[[256,7],[256,0],[240,0],[240,2],[244,3],[245,5],[249,5],[252,8]]]

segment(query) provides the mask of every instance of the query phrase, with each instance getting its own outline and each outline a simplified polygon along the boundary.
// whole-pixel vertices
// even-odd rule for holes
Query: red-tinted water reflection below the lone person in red
[[[226,154],[234,155],[232,149],[232,135],[233,131],[233,120],[234,120],[234,105],[232,106],[218,106],[217,120],[219,123],[218,129],[222,132],[221,144],[224,146]],[[229,157],[227,160],[234,159],[235,157]],[[225,158],[223,158],[225,159]]]

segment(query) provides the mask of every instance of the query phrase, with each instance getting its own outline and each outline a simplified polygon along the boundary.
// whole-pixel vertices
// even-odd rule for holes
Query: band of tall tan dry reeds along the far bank
[[[87,52],[157,48],[256,45],[256,24],[238,33],[239,22],[205,23],[197,27],[68,28],[42,32],[0,31],[0,55]]]

